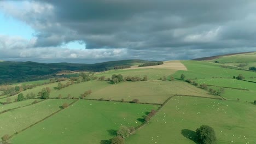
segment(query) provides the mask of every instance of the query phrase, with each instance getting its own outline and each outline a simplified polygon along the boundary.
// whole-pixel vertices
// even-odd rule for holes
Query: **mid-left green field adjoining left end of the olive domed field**
[[[57,83],[55,84],[57,87]],[[87,82],[81,82],[74,84],[72,86],[68,86],[65,88],[62,88],[60,90],[54,89],[50,93],[50,97],[58,97],[59,94],[62,95],[62,98],[67,97],[68,94],[71,94],[71,97],[78,98],[83,94],[85,91],[88,91],[89,89],[92,90],[92,93],[104,88],[111,86],[112,84],[109,84],[106,81],[87,81]]]

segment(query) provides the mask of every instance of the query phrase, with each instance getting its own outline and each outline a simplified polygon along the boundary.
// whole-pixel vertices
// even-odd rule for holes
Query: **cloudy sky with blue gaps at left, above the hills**
[[[255,0],[0,1],[0,60],[168,61],[256,51]]]

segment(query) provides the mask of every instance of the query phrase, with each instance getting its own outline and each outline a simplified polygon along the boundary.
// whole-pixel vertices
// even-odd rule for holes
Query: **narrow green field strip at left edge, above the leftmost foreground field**
[[[39,102],[42,99],[28,99],[28,100],[23,100],[23,101],[11,103],[11,104],[2,105],[0,106],[0,112],[9,110],[9,109],[14,109],[16,107],[23,107],[23,106],[30,105],[34,102],[34,100],[37,100]]]

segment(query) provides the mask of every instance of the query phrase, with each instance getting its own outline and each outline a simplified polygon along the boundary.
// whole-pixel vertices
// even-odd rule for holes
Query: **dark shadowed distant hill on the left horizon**
[[[95,64],[79,63],[36,63],[36,62],[10,62],[0,63],[0,84],[21,81],[39,80],[51,75],[55,75],[61,70],[76,71],[105,71],[114,69],[118,65],[138,65],[147,63],[139,59],[129,59],[122,61],[110,61]]]

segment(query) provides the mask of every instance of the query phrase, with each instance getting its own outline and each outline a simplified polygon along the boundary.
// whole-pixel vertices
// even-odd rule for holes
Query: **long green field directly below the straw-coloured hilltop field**
[[[103,73],[98,73],[96,76],[106,76],[110,77],[114,74],[118,75],[121,74],[123,76],[138,76],[143,77],[144,75],[148,76],[149,80],[157,80],[160,79],[162,76],[168,76],[173,74],[177,70],[170,70],[170,69],[156,69],[156,68],[149,68],[149,69],[119,69],[119,70],[109,70]]]

